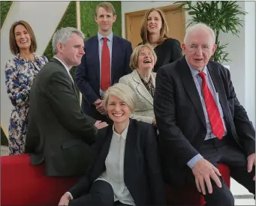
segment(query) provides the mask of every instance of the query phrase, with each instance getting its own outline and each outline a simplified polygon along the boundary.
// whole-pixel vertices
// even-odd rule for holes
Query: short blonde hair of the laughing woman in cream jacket
[[[130,67],[131,67],[131,70],[136,70],[137,69],[137,67],[138,67],[138,58],[139,58],[139,55],[140,55],[140,51],[143,48],[147,48],[147,49],[149,49],[150,52],[152,52],[152,55],[155,58],[155,62],[158,60],[158,57],[155,54],[155,51],[154,51],[153,47],[149,43],[137,46],[131,54],[130,64],[129,64]]]

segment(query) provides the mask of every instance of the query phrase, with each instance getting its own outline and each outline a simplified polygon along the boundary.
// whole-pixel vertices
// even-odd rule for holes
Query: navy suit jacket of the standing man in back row
[[[100,60],[98,54],[98,36],[89,38],[84,43],[86,54],[83,55],[81,64],[77,67],[76,83],[83,94],[83,112],[91,117],[104,120],[93,103],[100,96]],[[132,53],[131,42],[113,35],[111,85],[117,83],[122,76],[131,73],[129,67]],[[104,115],[105,117],[105,115]]]

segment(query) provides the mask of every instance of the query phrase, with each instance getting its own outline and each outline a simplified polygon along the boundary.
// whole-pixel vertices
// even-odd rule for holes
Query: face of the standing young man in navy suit
[[[113,22],[116,22],[116,15],[108,12],[104,7],[98,7],[97,16],[95,16],[95,22],[98,24],[98,31],[110,32],[112,31]]]

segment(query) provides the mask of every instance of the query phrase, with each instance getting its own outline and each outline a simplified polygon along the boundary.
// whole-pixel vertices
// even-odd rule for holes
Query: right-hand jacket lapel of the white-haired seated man
[[[207,64],[209,75],[212,78],[212,82],[215,88],[215,91],[218,93],[219,103],[221,104],[221,109],[224,115],[225,122],[227,121],[227,97],[223,88],[223,82],[221,81],[221,76],[218,74],[218,70],[214,69],[211,64]]]

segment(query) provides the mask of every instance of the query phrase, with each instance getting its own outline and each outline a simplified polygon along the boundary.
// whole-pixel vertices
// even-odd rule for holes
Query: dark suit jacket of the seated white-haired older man
[[[236,97],[229,70],[215,61],[209,61],[207,67],[218,92],[227,136],[235,139],[245,154],[255,152],[254,127]],[[191,171],[186,163],[198,154],[206,136],[203,107],[185,56],[158,70],[154,111],[164,179],[182,184],[186,172]]]

